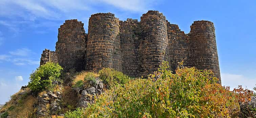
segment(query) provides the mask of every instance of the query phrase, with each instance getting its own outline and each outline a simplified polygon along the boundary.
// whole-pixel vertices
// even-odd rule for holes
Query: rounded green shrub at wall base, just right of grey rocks
[[[106,88],[111,88],[116,85],[123,85],[130,80],[130,78],[123,72],[114,70],[112,68],[103,68],[99,71],[99,75]]]

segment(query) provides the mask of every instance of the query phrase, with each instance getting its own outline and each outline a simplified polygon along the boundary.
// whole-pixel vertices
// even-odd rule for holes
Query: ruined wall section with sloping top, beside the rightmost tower
[[[178,25],[170,24],[167,21],[168,32],[168,51],[167,61],[173,72],[177,68],[178,62],[184,61],[186,66],[188,62],[188,35],[180,31]]]

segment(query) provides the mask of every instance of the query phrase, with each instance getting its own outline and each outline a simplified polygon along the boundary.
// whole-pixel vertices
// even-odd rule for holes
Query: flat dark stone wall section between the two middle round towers
[[[141,62],[138,56],[140,22],[137,19],[119,21],[122,57],[122,72],[133,77],[139,76]]]

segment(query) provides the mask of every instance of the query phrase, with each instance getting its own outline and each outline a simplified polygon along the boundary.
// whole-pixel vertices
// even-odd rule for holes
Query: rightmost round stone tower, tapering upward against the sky
[[[190,65],[214,72],[221,84],[215,28],[210,21],[194,21],[190,26]]]

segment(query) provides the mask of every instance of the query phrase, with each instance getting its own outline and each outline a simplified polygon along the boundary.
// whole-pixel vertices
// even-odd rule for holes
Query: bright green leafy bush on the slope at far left
[[[62,69],[59,64],[52,62],[41,65],[36,71],[30,74],[28,87],[35,92],[53,88],[52,81],[59,79]]]

